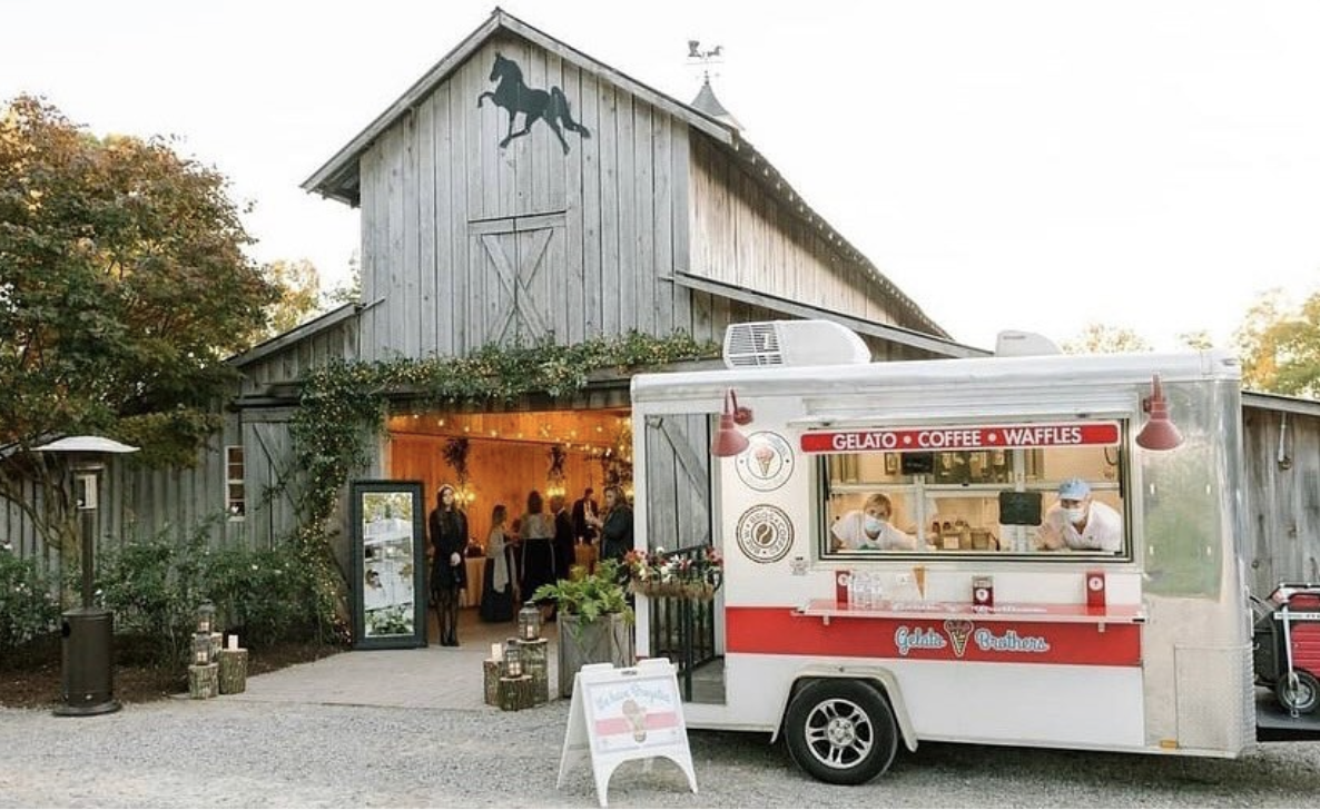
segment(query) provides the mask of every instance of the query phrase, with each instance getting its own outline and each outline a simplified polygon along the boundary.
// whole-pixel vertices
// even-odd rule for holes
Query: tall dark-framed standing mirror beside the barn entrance
[[[354,646],[426,646],[421,482],[354,482],[351,501]]]

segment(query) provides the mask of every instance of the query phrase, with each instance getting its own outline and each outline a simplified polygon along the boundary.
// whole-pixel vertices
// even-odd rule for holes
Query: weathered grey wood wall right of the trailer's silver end
[[[1320,418],[1243,408],[1242,425],[1242,555],[1251,592],[1267,596],[1280,582],[1320,582]],[[1280,431],[1288,459],[1282,464]]]

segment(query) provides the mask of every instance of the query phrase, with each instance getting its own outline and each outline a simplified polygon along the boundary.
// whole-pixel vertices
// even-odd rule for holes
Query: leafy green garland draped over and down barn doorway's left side
[[[334,562],[330,522],[350,475],[370,462],[370,441],[384,430],[391,397],[407,396],[421,406],[510,404],[527,394],[569,397],[586,388],[595,371],[718,355],[718,346],[686,332],[630,331],[573,346],[486,346],[466,358],[334,360],[312,371],[290,429],[301,475],[298,550],[317,573],[325,615],[334,615],[346,584]]]

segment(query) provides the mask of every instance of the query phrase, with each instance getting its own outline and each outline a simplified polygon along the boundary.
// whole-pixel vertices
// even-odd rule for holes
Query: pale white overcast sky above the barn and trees
[[[232,181],[253,259],[347,278],[358,211],[300,185],[490,0],[0,0],[0,102],[176,136]],[[1090,323],[1229,346],[1320,292],[1320,3],[506,0],[690,102],[721,102],[836,231],[961,343]]]

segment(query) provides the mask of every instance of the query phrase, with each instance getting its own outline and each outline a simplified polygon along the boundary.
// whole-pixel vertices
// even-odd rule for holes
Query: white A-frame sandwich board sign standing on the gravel
[[[605,807],[615,768],[628,760],[663,756],[682,769],[692,792],[697,792],[673,664],[664,658],[648,658],[626,669],[591,664],[574,678],[556,786],[562,788],[569,769],[587,757],[597,798]]]

